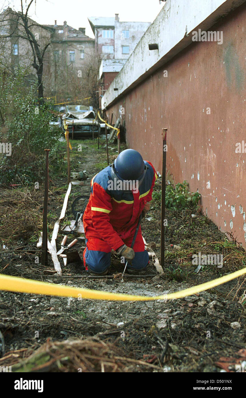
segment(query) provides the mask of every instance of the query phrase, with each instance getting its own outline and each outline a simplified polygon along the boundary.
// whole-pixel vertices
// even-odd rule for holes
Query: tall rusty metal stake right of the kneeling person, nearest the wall
[[[166,201],[166,160],[167,129],[162,129],[162,174],[161,174],[161,267],[165,265],[165,201]]]

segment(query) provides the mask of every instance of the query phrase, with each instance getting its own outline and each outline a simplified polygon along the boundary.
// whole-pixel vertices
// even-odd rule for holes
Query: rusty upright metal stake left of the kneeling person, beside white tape
[[[42,236],[42,254],[41,264],[48,265],[48,230],[47,230],[47,209],[48,209],[48,156],[50,149],[46,151],[46,164],[45,164],[45,196],[43,207],[43,236]]]

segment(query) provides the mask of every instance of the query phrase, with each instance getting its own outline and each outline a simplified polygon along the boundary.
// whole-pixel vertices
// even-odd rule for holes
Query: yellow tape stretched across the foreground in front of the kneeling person
[[[33,279],[24,279],[9,275],[0,275],[0,290],[6,290],[18,293],[33,293],[37,295],[62,296],[75,298],[92,298],[96,300],[116,300],[116,301],[150,301],[150,300],[167,300],[171,298],[182,298],[194,295],[215,286],[222,285],[232,279],[246,274],[246,268],[224,275],[212,281],[193,286],[188,289],[180,290],[175,293],[169,293],[162,296],[134,296],[121,293],[109,293],[99,290],[82,289],[77,287],[69,287],[66,285],[56,285]]]

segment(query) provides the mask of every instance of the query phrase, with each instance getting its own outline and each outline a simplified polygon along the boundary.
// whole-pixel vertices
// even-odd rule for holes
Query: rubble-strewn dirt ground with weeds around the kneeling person
[[[82,150],[77,151],[77,144]],[[87,170],[89,178],[82,186],[73,186],[66,221],[71,220],[71,204],[78,195],[89,195],[91,178],[105,166],[105,141],[73,141],[72,171]],[[110,161],[117,155],[116,145],[110,143]],[[122,148],[125,148],[122,144]],[[61,154],[66,154],[61,142]],[[59,218],[66,193],[66,170],[59,178],[50,176],[48,226],[51,235]],[[161,179],[155,190],[159,191]],[[186,289],[225,275],[245,265],[245,252],[236,241],[231,242],[200,210],[167,209],[165,272],[158,276],[152,260],[147,266],[147,278],[81,279],[87,275],[78,263],[64,267],[62,277],[46,275],[45,267],[35,262],[41,258],[36,244],[42,225],[43,184],[33,187],[6,188],[0,193],[0,273],[62,283],[74,287],[97,289],[134,295],[163,295]],[[142,222],[147,242],[155,241],[155,253],[160,259],[161,207],[153,201]],[[17,227],[17,228],[16,228]],[[70,237],[71,238],[71,237]],[[69,239],[70,239],[69,238]],[[60,246],[62,234],[57,239]],[[5,248],[4,246],[5,245]],[[76,244],[82,258],[84,244]],[[18,250],[16,250],[18,249]],[[16,250],[16,251],[13,251]],[[223,252],[226,263],[222,268],[204,266],[194,272],[194,253]],[[49,256],[48,269],[53,269]],[[110,275],[123,271],[116,254],[112,254]],[[39,349],[46,341],[66,341],[88,337],[113,344],[132,361],[131,372],[220,372],[235,371],[235,364],[246,359],[246,279],[234,279],[224,285],[178,300],[150,302],[113,302],[77,300],[22,293],[0,292],[0,331],[5,341],[0,365],[18,363]],[[232,324],[238,322],[238,328]],[[231,325],[232,324],[232,325]],[[232,327],[233,326],[233,327]],[[38,333],[37,333],[38,332]],[[96,340],[95,340],[96,341]],[[0,343],[0,357],[1,357]],[[18,351],[21,350],[21,351]],[[242,355],[242,352],[245,355]],[[7,358],[6,358],[7,357]],[[218,362],[230,358],[219,366]],[[139,362],[137,362],[139,361]],[[66,371],[62,368],[55,371]],[[76,371],[76,369],[74,369]]]

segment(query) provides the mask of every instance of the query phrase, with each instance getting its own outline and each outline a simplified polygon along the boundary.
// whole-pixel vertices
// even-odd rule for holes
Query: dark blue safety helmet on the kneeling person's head
[[[121,180],[139,180],[145,175],[147,166],[140,153],[134,149],[125,149],[114,160],[114,174]]]

